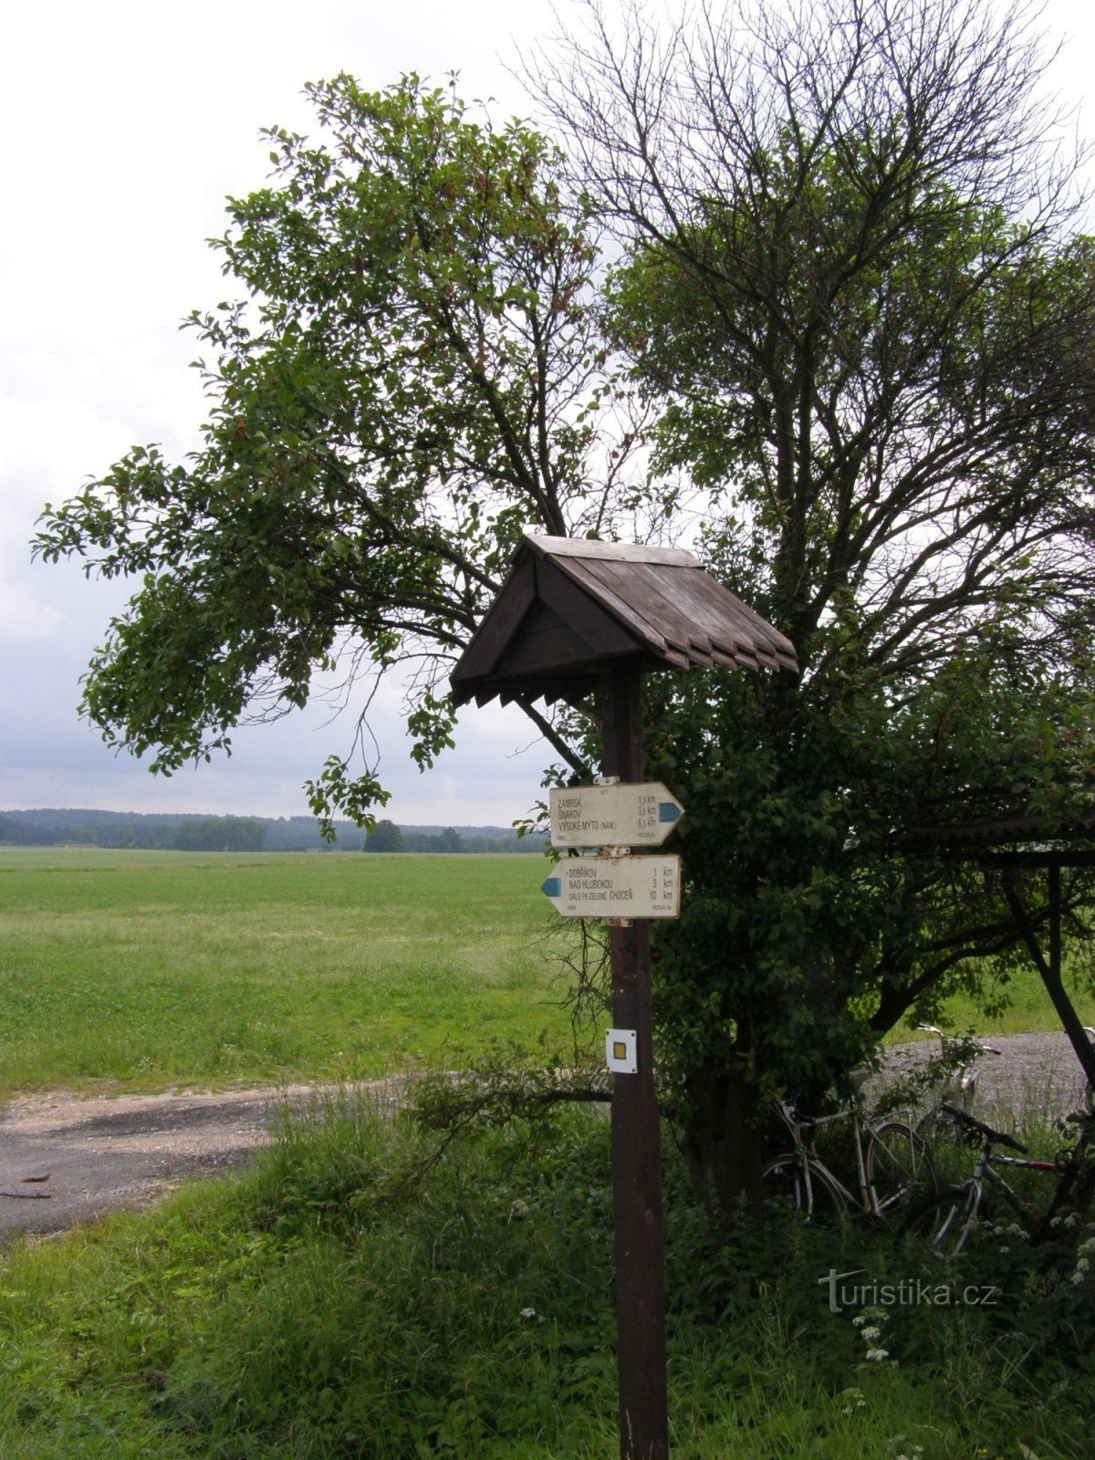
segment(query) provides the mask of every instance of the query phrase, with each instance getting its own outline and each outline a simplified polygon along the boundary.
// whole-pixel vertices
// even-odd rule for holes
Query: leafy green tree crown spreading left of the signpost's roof
[[[435,685],[521,529],[612,520],[585,415],[607,388],[594,248],[556,149],[415,76],[308,93],[317,139],[270,133],[270,184],[215,245],[242,296],[190,318],[203,448],[169,466],[136,447],[36,539],[139,577],[83,712],[165,774],[228,750],[248,707],[302,705],[346,637],[358,666],[416,661],[409,729],[432,764],[453,729]],[[310,803],[368,825],[387,797],[350,759]]]

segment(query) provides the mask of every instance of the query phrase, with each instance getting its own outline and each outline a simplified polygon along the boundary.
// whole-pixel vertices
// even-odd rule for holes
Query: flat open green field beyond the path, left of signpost
[[[0,848],[0,1092],[339,1079],[568,1029],[539,857]]]

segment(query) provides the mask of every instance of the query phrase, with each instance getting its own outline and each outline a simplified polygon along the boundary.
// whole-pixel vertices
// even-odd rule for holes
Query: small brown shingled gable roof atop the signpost
[[[457,704],[577,701],[609,663],[799,669],[790,639],[689,552],[526,536],[450,682]]]

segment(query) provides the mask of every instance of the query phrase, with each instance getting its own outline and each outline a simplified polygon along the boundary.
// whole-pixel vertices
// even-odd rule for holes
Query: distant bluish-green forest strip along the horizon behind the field
[[[194,816],[140,812],[0,812],[0,845],[112,847],[146,851],[543,851],[543,837],[510,826],[397,826],[377,822],[369,835],[336,825],[331,845],[311,816]]]

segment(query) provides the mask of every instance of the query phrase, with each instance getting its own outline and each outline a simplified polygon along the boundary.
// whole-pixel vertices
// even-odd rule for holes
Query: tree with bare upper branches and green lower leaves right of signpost
[[[1021,10],[590,18],[540,91],[625,251],[654,476],[802,664],[651,692],[651,772],[691,807],[657,1018],[730,1200],[765,1089],[1021,956],[999,879],[924,834],[1091,807],[1095,245]],[[1076,875],[1073,933],[1089,899]]]

